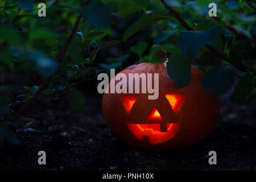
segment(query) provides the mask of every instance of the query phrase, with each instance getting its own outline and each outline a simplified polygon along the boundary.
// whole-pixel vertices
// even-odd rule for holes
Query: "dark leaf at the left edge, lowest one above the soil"
[[[20,144],[20,139],[9,127],[0,125],[0,142],[7,139],[13,144]]]

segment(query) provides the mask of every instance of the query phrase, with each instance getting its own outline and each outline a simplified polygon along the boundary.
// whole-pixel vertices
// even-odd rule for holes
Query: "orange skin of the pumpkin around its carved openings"
[[[189,85],[177,88],[176,82],[171,80],[167,74],[166,63],[167,61],[163,64],[141,63],[120,72],[125,73],[127,79],[129,73],[159,73],[158,100],[148,100],[148,93],[140,92],[141,94],[137,94],[139,97],[133,104],[130,113],[127,113],[122,97],[136,94],[105,93],[102,98],[102,111],[110,130],[133,146],[149,150],[176,150],[189,147],[203,140],[213,129],[218,118],[220,109],[218,97],[205,91],[201,86],[201,78],[204,73],[192,66]],[[114,78],[110,82],[113,81]],[[115,81],[115,85],[117,83],[118,81]],[[129,84],[130,80],[127,81],[127,90],[131,86]],[[141,84],[142,82],[140,81],[140,86]],[[180,106],[176,108],[175,113],[172,111],[173,109],[164,94],[177,94],[178,96],[181,94],[181,96],[185,96],[180,101]],[[145,129],[144,126],[147,127],[149,125],[136,124],[139,121],[147,123],[145,117],[150,114],[150,107],[148,106],[151,105],[155,106],[165,121],[168,121],[167,132]],[[170,124],[172,122],[176,123]]]

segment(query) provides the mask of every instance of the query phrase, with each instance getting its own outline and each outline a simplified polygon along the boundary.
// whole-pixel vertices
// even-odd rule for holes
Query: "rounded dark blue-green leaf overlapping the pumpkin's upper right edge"
[[[225,94],[233,85],[234,68],[232,65],[222,65],[210,69],[202,78],[204,90],[215,96]]]

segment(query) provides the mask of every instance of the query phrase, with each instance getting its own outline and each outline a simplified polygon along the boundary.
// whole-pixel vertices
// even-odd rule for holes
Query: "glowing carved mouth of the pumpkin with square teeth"
[[[127,123],[131,133],[139,140],[144,140],[150,144],[160,144],[175,137],[179,129],[179,123],[167,123],[167,131],[160,131],[160,124],[131,124]]]

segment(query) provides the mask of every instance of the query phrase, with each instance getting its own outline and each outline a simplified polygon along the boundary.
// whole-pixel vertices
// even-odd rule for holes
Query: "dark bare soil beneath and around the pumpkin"
[[[213,131],[199,144],[177,151],[147,151],[111,133],[101,111],[101,97],[85,92],[85,105],[74,109],[67,98],[32,105],[17,131],[20,146],[0,149],[2,170],[255,170],[255,100],[238,106],[221,104]],[[46,151],[47,165],[38,165]],[[208,153],[217,152],[217,165]]]

